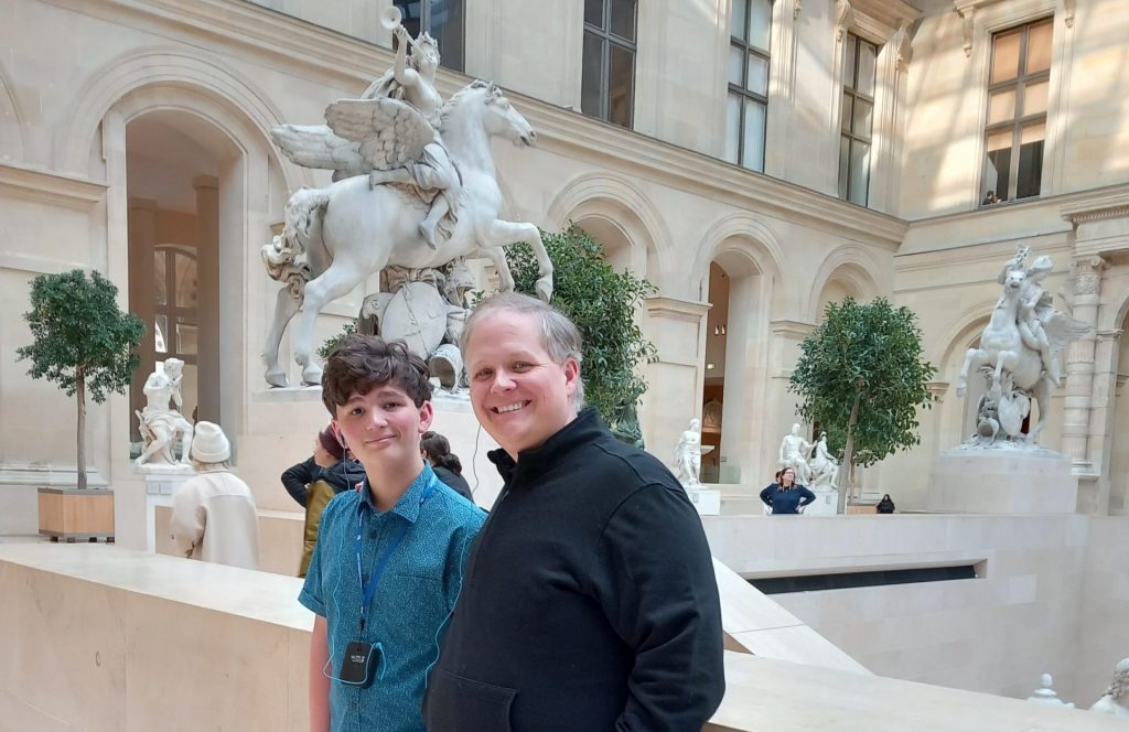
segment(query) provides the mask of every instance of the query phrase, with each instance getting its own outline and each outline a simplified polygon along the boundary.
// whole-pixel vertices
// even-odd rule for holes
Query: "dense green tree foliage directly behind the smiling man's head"
[[[561,234],[542,232],[541,238],[553,263],[552,304],[584,336],[585,401],[614,427],[622,421],[625,407],[633,407],[647,391],[636,366],[655,360],[656,349],[639,330],[636,312],[656,288],[628,271],[613,270],[599,244],[577,227]],[[507,247],[506,259],[515,289],[535,297],[539,274],[533,250],[515,244]]]

